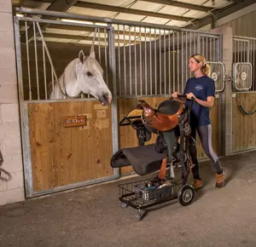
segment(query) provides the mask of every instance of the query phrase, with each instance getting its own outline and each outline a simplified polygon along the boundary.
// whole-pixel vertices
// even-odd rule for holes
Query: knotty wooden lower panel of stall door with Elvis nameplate
[[[113,175],[111,106],[30,103],[28,112],[34,192]],[[65,127],[75,116],[85,116],[85,126]]]

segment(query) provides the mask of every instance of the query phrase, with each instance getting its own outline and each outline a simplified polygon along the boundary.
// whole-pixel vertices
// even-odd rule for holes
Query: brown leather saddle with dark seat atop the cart
[[[167,100],[160,103],[157,109],[149,106],[146,101],[140,100],[137,109],[143,110],[141,118],[149,129],[167,131],[174,129],[178,124],[179,115],[184,105],[179,101]]]

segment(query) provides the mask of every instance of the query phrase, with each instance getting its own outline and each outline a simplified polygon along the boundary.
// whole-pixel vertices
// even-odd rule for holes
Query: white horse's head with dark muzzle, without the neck
[[[107,106],[112,101],[112,94],[103,79],[102,66],[97,62],[95,53],[85,57],[80,50],[79,61],[76,64],[77,83],[84,94],[90,94]]]

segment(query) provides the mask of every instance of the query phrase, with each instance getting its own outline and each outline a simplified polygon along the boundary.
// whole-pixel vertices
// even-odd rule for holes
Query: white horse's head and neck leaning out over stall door
[[[59,85],[55,83],[49,99],[73,98],[84,93],[96,97],[103,106],[108,106],[112,101],[112,94],[103,79],[102,66],[94,52],[86,57],[83,50],[80,50],[79,58],[67,65],[58,80]]]

